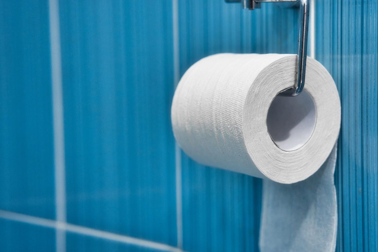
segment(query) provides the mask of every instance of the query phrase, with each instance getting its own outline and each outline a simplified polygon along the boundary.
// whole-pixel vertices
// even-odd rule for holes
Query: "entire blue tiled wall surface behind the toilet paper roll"
[[[312,2],[315,58],[342,103],[336,250],[378,251],[378,2]],[[296,53],[298,10],[245,11],[223,0],[58,3],[67,222],[175,247],[174,68],[181,76],[221,52]],[[54,220],[49,25],[48,0],[0,2],[0,210]],[[258,251],[261,180],[181,156],[183,249]],[[54,229],[0,216],[0,251],[54,251],[55,240]],[[65,244],[154,251],[71,232]]]

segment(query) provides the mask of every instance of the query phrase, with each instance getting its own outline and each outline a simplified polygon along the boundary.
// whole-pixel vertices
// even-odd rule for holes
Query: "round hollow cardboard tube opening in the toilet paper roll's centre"
[[[316,106],[305,90],[297,96],[277,95],[270,104],[266,126],[273,142],[283,151],[301,148],[316,124]]]

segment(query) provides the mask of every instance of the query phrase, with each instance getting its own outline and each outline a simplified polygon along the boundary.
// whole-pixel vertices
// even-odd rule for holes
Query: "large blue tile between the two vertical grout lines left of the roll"
[[[170,1],[60,1],[68,222],[176,245]]]

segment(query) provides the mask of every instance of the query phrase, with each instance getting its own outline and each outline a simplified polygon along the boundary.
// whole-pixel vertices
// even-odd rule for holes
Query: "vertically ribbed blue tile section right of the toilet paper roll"
[[[338,86],[338,251],[378,251],[378,2],[316,1],[316,58]]]

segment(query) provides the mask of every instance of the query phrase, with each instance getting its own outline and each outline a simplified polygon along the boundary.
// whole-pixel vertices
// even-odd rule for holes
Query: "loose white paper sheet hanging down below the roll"
[[[335,251],[336,148],[308,179],[286,185],[263,182],[261,251]]]

